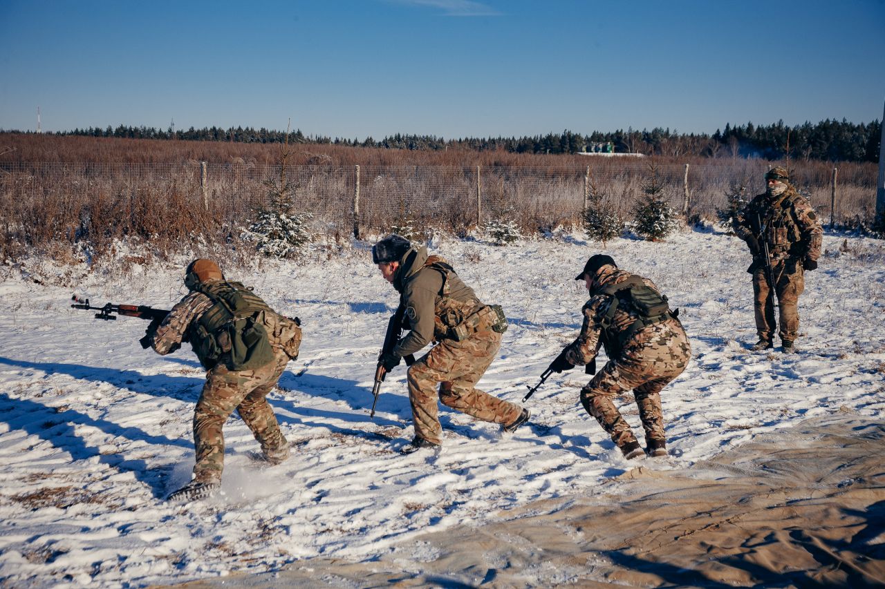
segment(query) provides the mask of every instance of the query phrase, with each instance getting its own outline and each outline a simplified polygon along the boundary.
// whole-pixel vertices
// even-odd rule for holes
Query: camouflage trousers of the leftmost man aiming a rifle
[[[194,478],[220,482],[224,470],[224,435],[221,428],[236,409],[265,453],[286,444],[273,409],[265,399],[289,356],[277,352],[272,363],[251,371],[229,371],[219,364],[206,374],[206,384],[194,410]]]

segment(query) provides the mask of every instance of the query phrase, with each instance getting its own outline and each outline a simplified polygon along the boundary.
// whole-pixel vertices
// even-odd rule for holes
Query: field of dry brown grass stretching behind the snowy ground
[[[70,263],[113,255],[124,241],[145,260],[184,250],[248,256],[240,228],[266,204],[264,182],[279,175],[281,146],[5,133],[0,148],[12,148],[0,156],[0,259],[15,261],[30,250]],[[205,192],[201,161],[208,168]],[[650,160],[297,144],[288,161],[296,209],[314,215],[316,233],[339,242],[352,231],[356,165],[364,233],[383,233],[408,219],[424,233],[463,234],[478,221],[505,215],[531,234],[579,226],[588,167],[596,188],[630,218]],[[750,196],[761,192],[769,164],[734,157],[655,162],[678,210],[689,164],[689,218],[707,219],[726,206],[735,181],[746,180]],[[833,164],[793,161],[790,167],[828,224]],[[839,164],[839,226],[871,225],[876,175],[874,164]]]

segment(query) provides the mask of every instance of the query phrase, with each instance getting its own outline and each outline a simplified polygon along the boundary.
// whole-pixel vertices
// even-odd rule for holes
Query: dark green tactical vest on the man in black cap
[[[658,294],[658,291],[646,285],[643,279],[635,274],[617,284],[602,287],[597,293],[612,299],[608,308],[603,311],[600,307],[601,312],[596,316],[596,323],[602,327],[605,354],[610,359],[620,356],[627,341],[643,327],[675,317],[670,310],[666,295]],[[637,316],[632,324],[620,331],[612,325],[618,309],[624,312],[633,310]]]

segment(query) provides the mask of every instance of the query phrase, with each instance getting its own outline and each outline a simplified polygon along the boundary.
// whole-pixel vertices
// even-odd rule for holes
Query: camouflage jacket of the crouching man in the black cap
[[[581,308],[581,314],[584,316],[581,334],[578,335],[578,338],[573,341],[566,351],[566,360],[575,365],[589,363],[599,353],[599,348],[603,346],[605,346],[605,353],[609,356],[609,360],[614,360],[617,356],[620,356],[621,350],[616,349],[617,346],[614,342],[618,340],[618,334],[627,331],[639,317],[632,304],[628,302],[619,304],[617,310],[615,310],[614,317],[612,317],[612,324],[609,325],[608,329],[604,329],[601,319],[612,303],[612,296],[604,295],[600,292],[601,289],[624,282],[632,276],[630,272],[617,270],[612,266],[607,266],[607,268],[612,270],[600,271],[601,273],[597,275],[594,282],[594,288],[590,292],[589,301],[584,303],[583,308]],[[643,283],[645,286],[653,288],[660,293],[658,287],[650,279],[643,278]],[[670,318],[662,322],[662,324],[650,325],[637,331],[629,341],[642,340],[643,332],[652,328],[660,329],[658,325],[670,325],[673,329],[682,329],[679,319]]]

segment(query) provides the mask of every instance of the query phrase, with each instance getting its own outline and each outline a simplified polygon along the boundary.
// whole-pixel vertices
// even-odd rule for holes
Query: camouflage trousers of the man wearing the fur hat
[[[474,388],[501,347],[501,334],[490,330],[463,341],[443,340],[409,368],[409,402],[415,435],[443,442],[437,417],[437,392],[443,405],[495,424],[512,424],[522,409]]]

